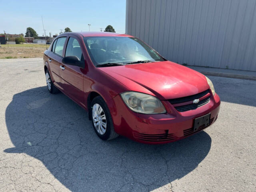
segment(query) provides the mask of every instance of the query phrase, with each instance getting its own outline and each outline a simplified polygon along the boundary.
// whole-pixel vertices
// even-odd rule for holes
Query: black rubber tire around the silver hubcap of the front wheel
[[[94,120],[93,120],[93,116],[92,116],[92,108],[94,106],[94,104],[99,104],[106,116],[106,132],[104,134],[100,134],[96,127],[94,126]],[[91,115],[91,119],[92,119],[92,126],[96,132],[96,134],[98,135],[99,138],[101,138],[102,140],[112,140],[114,138],[117,138],[119,135],[114,131],[114,125],[113,125],[113,121],[112,121],[112,117],[110,114],[110,111],[108,109],[107,104],[105,103],[105,101],[103,100],[103,98],[101,96],[97,96],[92,100],[92,103],[90,105],[90,115]]]

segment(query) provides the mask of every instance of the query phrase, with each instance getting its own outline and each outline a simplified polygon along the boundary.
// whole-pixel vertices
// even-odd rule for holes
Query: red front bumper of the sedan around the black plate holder
[[[178,112],[168,101],[162,101],[166,114],[139,114],[132,112],[120,95],[114,97],[114,106],[110,108],[115,131],[137,142],[146,144],[164,144],[183,139],[194,132],[194,119],[211,113],[210,124],[217,119],[220,110],[218,94],[210,96],[210,102],[195,110]]]

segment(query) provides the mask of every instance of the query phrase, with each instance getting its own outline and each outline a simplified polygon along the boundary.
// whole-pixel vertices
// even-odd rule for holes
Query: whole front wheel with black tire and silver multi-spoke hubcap
[[[118,134],[114,131],[108,106],[101,96],[97,96],[92,100],[90,110],[92,126],[99,138],[102,140],[111,140],[118,137]]]

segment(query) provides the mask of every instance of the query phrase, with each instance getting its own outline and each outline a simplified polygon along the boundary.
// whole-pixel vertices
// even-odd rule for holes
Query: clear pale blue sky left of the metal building
[[[32,27],[39,36],[56,34],[69,27],[72,31],[99,31],[112,25],[125,33],[126,0],[0,0],[0,33],[19,34]]]

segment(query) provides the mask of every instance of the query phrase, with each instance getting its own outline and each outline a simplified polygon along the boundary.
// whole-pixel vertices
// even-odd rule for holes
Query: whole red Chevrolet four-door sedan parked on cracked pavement
[[[44,52],[50,93],[82,108],[102,140],[168,143],[210,126],[220,98],[210,79],[130,35],[68,32]]]

